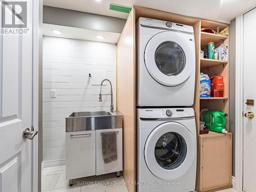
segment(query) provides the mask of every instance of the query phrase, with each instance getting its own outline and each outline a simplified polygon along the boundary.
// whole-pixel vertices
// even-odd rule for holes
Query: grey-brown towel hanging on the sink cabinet
[[[116,132],[101,132],[102,156],[105,164],[117,160]]]

